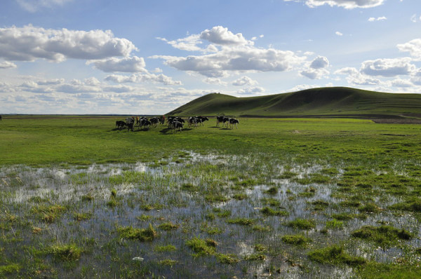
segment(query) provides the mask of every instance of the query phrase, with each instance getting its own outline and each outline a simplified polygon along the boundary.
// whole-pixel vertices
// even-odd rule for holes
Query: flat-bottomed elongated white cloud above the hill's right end
[[[408,75],[416,69],[414,64],[410,64],[410,61],[409,57],[367,60],[361,64],[361,72],[368,76]]]

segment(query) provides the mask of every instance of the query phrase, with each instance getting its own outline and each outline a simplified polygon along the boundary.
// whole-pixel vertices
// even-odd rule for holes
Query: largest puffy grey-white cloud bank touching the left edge
[[[39,58],[61,62],[67,58],[106,59],[127,57],[135,45],[114,37],[110,30],[44,29],[27,25],[0,28],[0,57],[4,60],[34,61]]]

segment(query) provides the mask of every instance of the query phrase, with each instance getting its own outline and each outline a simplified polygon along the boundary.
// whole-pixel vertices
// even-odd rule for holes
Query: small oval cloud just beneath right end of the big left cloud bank
[[[142,57],[111,57],[105,60],[90,60],[86,64],[93,64],[103,72],[146,72],[145,60]]]

